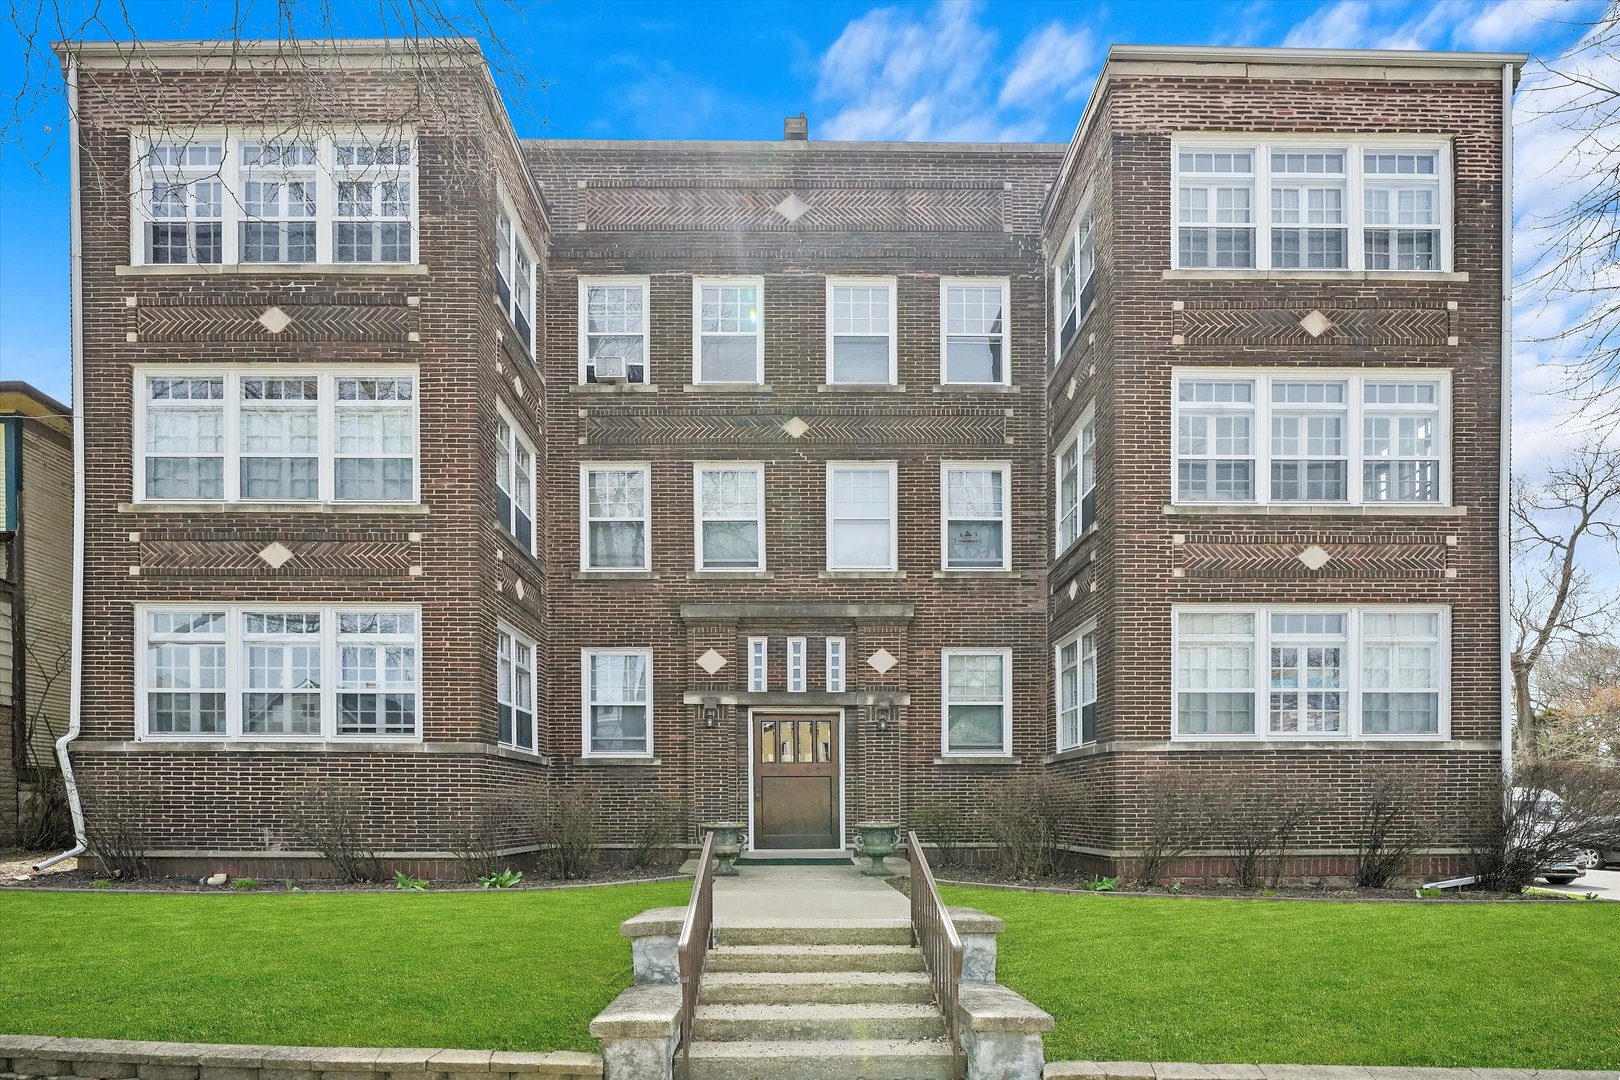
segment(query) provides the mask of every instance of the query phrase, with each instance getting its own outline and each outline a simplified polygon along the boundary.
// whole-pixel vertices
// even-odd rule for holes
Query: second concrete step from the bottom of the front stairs
[[[692,1025],[692,1048],[705,1041],[935,1040],[944,1033],[944,1017],[932,1004],[700,1004]]]

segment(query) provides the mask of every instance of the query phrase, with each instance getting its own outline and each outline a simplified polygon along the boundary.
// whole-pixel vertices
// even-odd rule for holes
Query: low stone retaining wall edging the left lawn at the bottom
[[[488,1049],[230,1046],[0,1035],[0,1078],[40,1080],[601,1080],[596,1054]]]

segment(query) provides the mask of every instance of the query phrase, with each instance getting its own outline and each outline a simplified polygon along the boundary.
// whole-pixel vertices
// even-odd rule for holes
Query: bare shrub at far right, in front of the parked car
[[[1533,758],[1481,797],[1471,829],[1479,886],[1521,892],[1554,861],[1620,847],[1620,769]]]

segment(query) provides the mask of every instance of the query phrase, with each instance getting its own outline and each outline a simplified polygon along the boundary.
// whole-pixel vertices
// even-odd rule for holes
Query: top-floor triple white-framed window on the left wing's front
[[[131,141],[130,261],[416,262],[410,131],[193,131]]]

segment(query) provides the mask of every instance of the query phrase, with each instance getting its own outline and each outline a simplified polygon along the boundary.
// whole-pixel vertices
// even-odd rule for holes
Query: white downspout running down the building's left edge
[[[84,805],[79,801],[79,785],[73,779],[73,763],[68,761],[68,743],[79,737],[79,682],[84,670],[84,233],[79,217],[79,63],[68,57],[68,196],[70,254],[73,317],[70,348],[73,353],[73,661],[68,667],[68,730],[57,740],[57,761],[62,763],[62,782],[68,793],[68,810],[73,813],[73,847],[60,855],[34,863],[45,870],[83,855]]]

